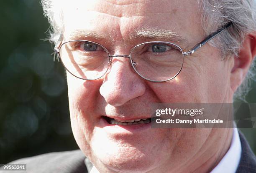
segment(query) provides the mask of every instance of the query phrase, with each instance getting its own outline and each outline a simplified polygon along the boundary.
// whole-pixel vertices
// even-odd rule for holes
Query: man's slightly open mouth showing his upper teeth
[[[111,125],[137,125],[151,123],[151,118],[134,119],[134,120],[120,120],[103,116],[103,118]]]

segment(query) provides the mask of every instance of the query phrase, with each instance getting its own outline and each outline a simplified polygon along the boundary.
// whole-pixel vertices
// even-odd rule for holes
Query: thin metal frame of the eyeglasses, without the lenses
[[[215,31],[214,33],[211,33],[210,35],[208,35],[204,40],[202,40],[200,43],[197,43],[193,48],[191,48],[191,49],[190,49],[189,51],[187,51],[187,52],[183,52],[182,48],[180,48],[179,45],[176,45],[176,44],[174,44],[174,43],[164,42],[164,41],[150,41],[150,42],[145,42],[145,43],[141,43],[141,44],[138,44],[138,45],[134,46],[134,47],[131,49],[129,55],[115,55],[115,54],[114,54],[114,55],[110,55],[110,53],[108,52],[108,50],[107,50],[104,46],[102,46],[102,45],[99,44],[99,43],[93,42],[93,41],[88,41],[88,40],[70,40],[70,41],[67,41],[67,42],[62,43],[62,41],[63,41],[63,35],[62,35],[62,34],[60,35],[59,40],[58,40],[57,44],[56,44],[55,47],[54,47],[54,52],[57,53],[58,58],[61,59],[61,56],[60,56],[60,49],[61,49],[61,46],[64,45],[64,44],[66,44],[66,43],[73,42],[73,41],[87,41],[87,42],[95,43],[95,44],[97,44],[97,45],[100,45],[102,48],[104,48],[104,50],[108,53],[109,65],[108,65],[108,68],[107,68],[106,72],[105,72],[102,76],[104,76],[104,75],[108,72],[108,69],[109,69],[110,66],[111,66],[113,57],[123,57],[123,58],[129,58],[129,59],[130,59],[130,63],[131,63],[131,66],[133,67],[133,70],[134,70],[141,78],[143,78],[143,79],[145,79],[145,80],[148,80],[148,81],[151,81],[151,82],[155,82],[155,83],[166,82],[166,81],[169,81],[169,80],[174,79],[177,75],[179,75],[179,73],[181,72],[182,67],[183,67],[183,62],[184,62],[184,57],[185,57],[185,56],[188,56],[188,55],[191,55],[191,54],[195,53],[196,50],[198,50],[199,48],[201,48],[203,45],[205,45],[207,42],[209,42],[210,40],[212,40],[213,38],[215,38],[217,35],[219,35],[219,34],[222,33],[223,31],[225,31],[226,29],[228,29],[231,25],[232,25],[231,22],[227,23],[226,25],[224,25],[224,26],[223,26],[222,28],[220,28],[219,30],[217,30],[217,31]],[[151,80],[151,79],[145,78],[145,77],[143,77],[140,73],[138,73],[138,71],[135,69],[136,63],[133,62],[133,60],[132,60],[132,58],[131,58],[131,53],[132,53],[132,51],[133,51],[135,48],[137,48],[138,46],[143,45],[143,44],[147,44],[147,43],[164,43],[164,44],[174,45],[174,46],[176,46],[177,48],[179,48],[179,50],[180,50],[181,53],[182,53],[182,58],[183,58],[183,60],[182,60],[182,66],[181,66],[179,72],[178,72],[176,75],[174,75],[172,78],[170,78],[170,79],[168,79],[168,80],[161,80],[161,81],[158,81],[158,80]],[[62,60],[61,60],[61,62],[62,62]],[[135,63],[135,64],[134,64],[134,63]],[[62,62],[62,64],[64,65],[63,62]],[[65,65],[64,65],[64,67],[66,68]],[[67,70],[70,74],[72,74],[74,77],[79,78],[78,76],[76,76],[76,75],[74,75],[73,73],[71,73],[67,68],[66,68],[66,70]],[[100,76],[99,78],[101,78],[102,76]],[[97,79],[99,79],[99,78],[96,78],[96,79],[84,79],[84,78],[79,78],[79,79],[82,79],[82,80],[97,80]]]

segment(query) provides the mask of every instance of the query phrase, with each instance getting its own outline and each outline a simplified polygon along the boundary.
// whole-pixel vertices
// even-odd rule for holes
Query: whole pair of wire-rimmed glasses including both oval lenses
[[[102,45],[89,40],[71,40],[62,43],[62,38],[54,50],[69,73],[83,80],[101,78],[111,66],[114,57],[129,58],[132,68],[141,77],[151,82],[165,82],[175,78],[183,67],[184,57],[194,53],[215,36],[222,33],[231,23],[210,34],[188,52],[174,43],[151,41],[136,45],[129,55],[110,55]]]

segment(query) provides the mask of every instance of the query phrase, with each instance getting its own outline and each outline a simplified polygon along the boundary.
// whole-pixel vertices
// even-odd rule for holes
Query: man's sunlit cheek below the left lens
[[[97,120],[93,110],[95,110],[99,82],[80,80],[67,73],[67,83],[74,138],[84,152],[90,152],[90,141]],[[89,153],[85,154],[89,155]]]

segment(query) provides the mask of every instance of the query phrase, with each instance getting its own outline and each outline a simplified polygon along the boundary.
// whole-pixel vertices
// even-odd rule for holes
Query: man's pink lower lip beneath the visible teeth
[[[133,124],[133,125],[117,125],[117,124],[109,124],[107,120],[104,118],[100,118],[100,126],[104,130],[108,130],[111,133],[135,133],[143,130],[147,130],[151,128],[151,123],[146,124]]]

